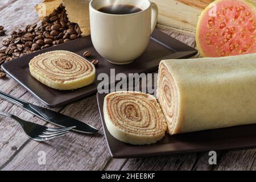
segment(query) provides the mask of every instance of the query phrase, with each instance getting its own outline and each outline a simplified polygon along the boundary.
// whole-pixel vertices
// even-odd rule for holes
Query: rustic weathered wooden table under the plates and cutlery
[[[38,22],[34,6],[41,0],[1,0],[0,25],[7,34],[26,24]],[[195,38],[165,31],[168,35],[195,47]],[[0,42],[5,37],[0,37]],[[1,46],[0,46],[1,48]],[[0,90],[12,96],[42,104],[27,90],[7,77],[0,80]],[[18,115],[28,121],[45,124],[9,102],[0,100],[0,110]],[[217,165],[210,166],[208,152],[158,156],[141,159],[113,159],[106,145],[98,113],[96,96],[56,111],[88,122],[100,129],[95,136],[70,133],[66,137],[45,143],[27,138],[20,126],[6,117],[0,117],[0,169],[1,170],[249,170],[256,169],[256,150],[217,151]],[[50,125],[49,125],[50,126]],[[39,165],[39,152],[46,152],[46,165]]]

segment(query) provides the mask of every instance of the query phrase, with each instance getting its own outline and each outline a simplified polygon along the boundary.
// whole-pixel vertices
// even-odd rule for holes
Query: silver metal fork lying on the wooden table
[[[10,117],[18,121],[18,123],[22,126],[24,132],[28,135],[28,137],[31,138],[32,140],[35,140],[36,142],[43,142],[46,140],[63,137],[66,133],[75,128],[75,126],[65,128],[46,127],[38,125],[36,123],[25,121],[23,119],[20,119],[19,117],[16,117],[13,114],[9,114],[3,111],[0,111],[0,115]]]

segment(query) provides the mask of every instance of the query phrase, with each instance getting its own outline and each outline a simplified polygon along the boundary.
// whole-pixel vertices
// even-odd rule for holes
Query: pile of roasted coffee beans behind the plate
[[[2,26],[0,35],[1,30]],[[0,50],[0,65],[40,49],[81,38],[81,34],[79,25],[69,22],[65,7],[60,5],[52,14],[44,17],[40,26],[35,23],[28,25],[25,30],[11,32],[11,37],[2,42],[5,48]]]

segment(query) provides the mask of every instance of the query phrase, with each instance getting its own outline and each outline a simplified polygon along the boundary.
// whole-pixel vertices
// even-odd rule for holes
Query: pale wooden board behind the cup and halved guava
[[[201,12],[214,0],[152,0],[159,7],[158,27],[195,36]],[[249,0],[256,4],[256,0]]]

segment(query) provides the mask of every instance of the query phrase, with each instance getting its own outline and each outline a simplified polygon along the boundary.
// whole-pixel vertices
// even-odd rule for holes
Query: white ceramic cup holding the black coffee
[[[109,5],[133,5],[134,14],[106,14],[98,11]],[[92,0],[90,31],[96,51],[113,64],[129,64],[146,50],[158,19],[158,6],[149,0]]]

